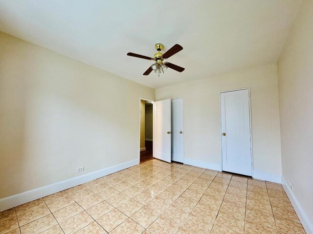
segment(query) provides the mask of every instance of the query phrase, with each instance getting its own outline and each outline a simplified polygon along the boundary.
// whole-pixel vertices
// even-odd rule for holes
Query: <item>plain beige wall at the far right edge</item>
[[[278,61],[282,176],[313,233],[313,1],[302,4]]]

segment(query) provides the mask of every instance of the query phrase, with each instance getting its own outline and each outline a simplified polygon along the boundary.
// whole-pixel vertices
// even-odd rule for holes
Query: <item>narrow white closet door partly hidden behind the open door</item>
[[[183,99],[172,99],[172,161],[183,162]]]

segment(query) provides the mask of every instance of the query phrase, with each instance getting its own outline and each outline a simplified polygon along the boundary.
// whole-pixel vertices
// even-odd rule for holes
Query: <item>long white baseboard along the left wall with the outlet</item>
[[[139,159],[0,199],[0,212],[139,164]]]

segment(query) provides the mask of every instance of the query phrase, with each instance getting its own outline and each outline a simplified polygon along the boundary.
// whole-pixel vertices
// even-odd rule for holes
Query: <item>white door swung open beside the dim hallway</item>
[[[171,99],[156,101],[154,108],[154,156],[171,162]]]

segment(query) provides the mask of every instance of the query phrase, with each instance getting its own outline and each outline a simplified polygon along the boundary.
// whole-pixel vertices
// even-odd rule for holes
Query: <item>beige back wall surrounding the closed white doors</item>
[[[156,100],[184,98],[184,157],[221,164],[219,92],[246,87],[251,90],[254,170],[280,178],[276,64],[159,88]]]

